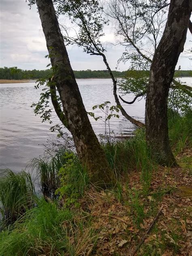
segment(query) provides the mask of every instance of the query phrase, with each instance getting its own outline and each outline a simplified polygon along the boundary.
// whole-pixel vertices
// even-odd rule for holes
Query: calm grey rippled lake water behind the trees
[[[182,78],[183,82],[191,83],[191,78]],[[111,79],[79,79],[77,80],[81,96],[87,111],[105,101],[115,105]],[[0,84],[0,169],[9,168],[21,171],[27,162],[43,154],[47,139],[56,138],[56,133],[49,130],[54,124],[59,124],[58,117],[53,115],[53,124],[42,123],[30,108],[32,102],[37,102],[41,89],[34,89],[34,82]],[[134,96],[124,96],[132,100]],[[145,100],[132,105],[122,104],[129,115],[144,122]],[[95,116],[105,117],[102,111],[92,111]],[[90,118],[97,135],[105,133],[105,123]],[[120,114],[120,118],[111,118],[110,129],[116,135],[130,134],[134,126]]]

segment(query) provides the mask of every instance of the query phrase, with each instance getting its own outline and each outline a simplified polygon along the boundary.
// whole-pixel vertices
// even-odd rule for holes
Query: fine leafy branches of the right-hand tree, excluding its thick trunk
[[[169,1],[157,0],[109,0],[107,14],[115,22],[117,44],[125,47],[120,61],[130,61],[130,71],[126,78],[119,82],[123,94],[134,93],[135,98],[146,96],[149,75],[135,70],[149,71],[154,52],[162,36]],[[190,28],[190,24],[189,24]],[[192,87],[183,85],[173,79],[171,89],[187,98],[192,97]],[[169,96],[171,99],[171,94]],[[181,100],[182,101],[182,100]]]

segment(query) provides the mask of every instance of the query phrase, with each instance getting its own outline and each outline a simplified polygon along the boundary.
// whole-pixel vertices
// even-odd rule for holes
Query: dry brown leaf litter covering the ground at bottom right
[[[177,160],[182,161],[182,155]],[[181,190],[191,191],[190,168],[160,166],[153,171],[148,194],[143,193],[140,175],[138,171],[131,172],[128,184],[122,178],[121,203],[114,191],[98,192],[93,188],[81,200],[97,233],[90,255],[132,255],[162,206],[158,219],[134,255],[192,256],[192,196]],[[134,197],[137,193],[138,205],[133,207],[130,194]]]

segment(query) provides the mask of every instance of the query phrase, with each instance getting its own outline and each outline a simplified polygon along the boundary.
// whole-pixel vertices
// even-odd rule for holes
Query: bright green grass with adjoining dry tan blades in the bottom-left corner
[[[41,198],[11,230],[0,233],[0,255],[88,255],[95,241],[86,218]]]

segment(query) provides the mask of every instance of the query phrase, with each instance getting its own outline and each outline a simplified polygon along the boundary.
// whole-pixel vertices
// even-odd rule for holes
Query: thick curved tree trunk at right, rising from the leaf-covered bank
[[[146,140],[159,164],[174,165],[169,145],[167,100],[175,66],[186,41],[192,0],[171,0],[168,20],[151,64],[147,87]]]

